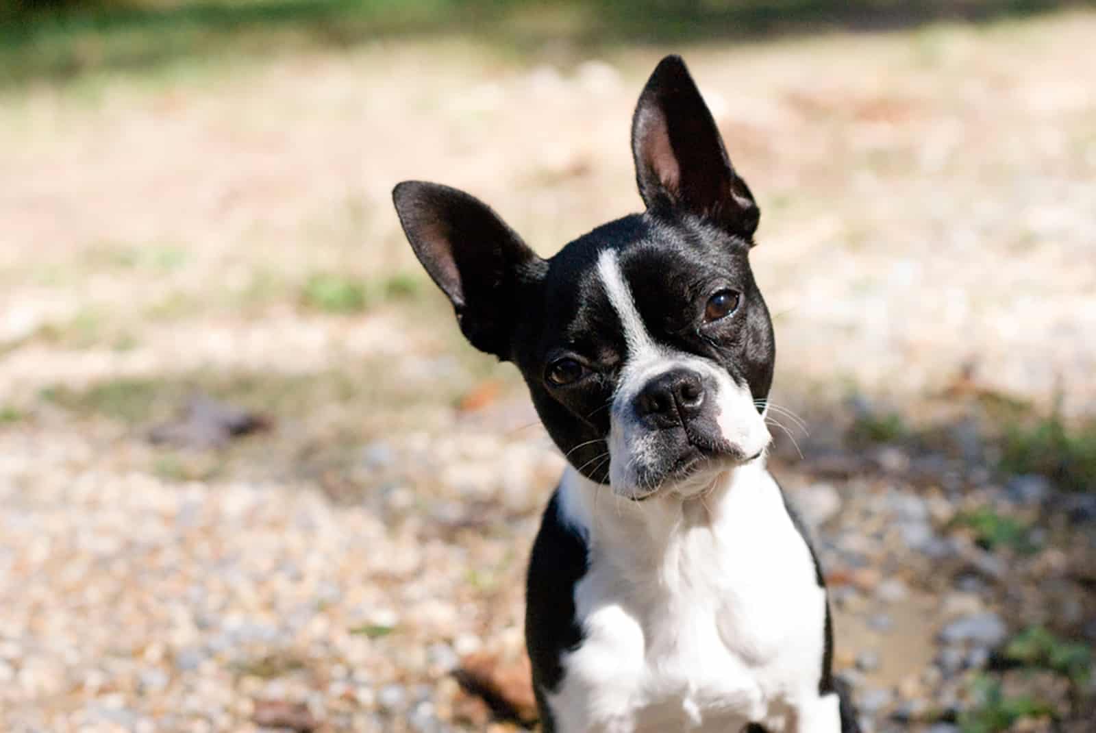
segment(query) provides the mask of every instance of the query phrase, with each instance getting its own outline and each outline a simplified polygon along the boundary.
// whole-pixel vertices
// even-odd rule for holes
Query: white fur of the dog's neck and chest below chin
[[[763,460],[703,495],[644,502],[571,468],[561,515],[585,539],[582,645],[548,698],[561,733],[840,733],[818,694],[825,597]]]

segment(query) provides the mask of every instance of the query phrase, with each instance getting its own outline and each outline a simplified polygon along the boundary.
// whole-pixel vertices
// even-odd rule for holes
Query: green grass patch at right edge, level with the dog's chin
[[[1001,440],[1001,469],[1041,473],[1070,491],[1096,491],[1096,420],[1071,426],[1055,410],[1034,424],[1011,424]]]

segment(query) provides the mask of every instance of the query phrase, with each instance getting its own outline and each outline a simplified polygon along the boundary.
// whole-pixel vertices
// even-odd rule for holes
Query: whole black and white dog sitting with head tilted
[[[814,553],[765,469],[758,208],[681,58],[632,119],[643,214],[549,260],[432,183],[393,198],[473,346],[521,369],[569,466],[529,564],[545,731],[855,731]]]

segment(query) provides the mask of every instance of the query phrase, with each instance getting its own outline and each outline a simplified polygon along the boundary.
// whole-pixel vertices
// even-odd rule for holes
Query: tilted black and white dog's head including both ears
[[[690,495],[770,439],[758,210],[677,57],[640,95],[632,151],[647,210],[549,260],[463,192],[406,182],[393,198],[465,335],[517,365],[571,465],[629,499]]]

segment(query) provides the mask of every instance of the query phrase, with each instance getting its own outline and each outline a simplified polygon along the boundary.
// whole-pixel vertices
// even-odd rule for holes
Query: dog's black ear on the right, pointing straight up
[[[662,59],[639,95],[631,151],[648,209],[674,207],[753,237],[761,211],[680,56]]]

